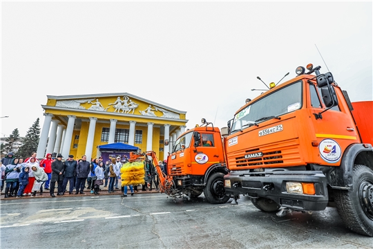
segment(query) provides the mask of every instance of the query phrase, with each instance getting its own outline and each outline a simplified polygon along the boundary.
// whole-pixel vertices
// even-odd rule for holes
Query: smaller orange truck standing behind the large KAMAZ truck
[[[167,157],[166,194],[172,197],[195,198],[202,192],[209,203],[226,203],[224,189],[225,165],[220,130],[202,119],[202,125],[189,129],[175,141]]]

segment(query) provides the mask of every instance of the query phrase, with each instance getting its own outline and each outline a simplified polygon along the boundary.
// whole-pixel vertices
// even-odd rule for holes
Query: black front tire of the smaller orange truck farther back
[[[230,199],[230,197],[225,194],[223,177],[224,174],[216,172],[211,174],[209,179],[207,179],[207,184],[206,187],[204,187],[203,194],[211,204],[227,203]]]

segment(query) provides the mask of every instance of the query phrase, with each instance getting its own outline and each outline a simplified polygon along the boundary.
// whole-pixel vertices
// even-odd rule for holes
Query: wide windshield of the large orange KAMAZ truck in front
[[[271,118],[278,118],[278,116],[296,111],[301,107],[302,81],[298,81],[242,109],[233,118],[231,132],[240,131],[245,127],[250,127]]]

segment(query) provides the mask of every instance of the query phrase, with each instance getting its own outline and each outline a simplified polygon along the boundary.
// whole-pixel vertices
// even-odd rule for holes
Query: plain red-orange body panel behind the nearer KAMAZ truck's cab
[[[364,143],[373,145],[373,101],[352,102],[352,116],[354,116],[358,132]]]

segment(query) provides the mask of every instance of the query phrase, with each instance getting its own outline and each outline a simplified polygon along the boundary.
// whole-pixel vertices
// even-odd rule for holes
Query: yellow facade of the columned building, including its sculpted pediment
[[[81,158],[83,155],[88,154],[91,150],[92,158],[99,156],[97,146],[107,145],[108,140],[103,133],[104,130],[111,129],[111,120],[115,121],[115,133],[118,134],[121,131],[118,129],[125,129],[125,132],[130,132],[130,122],[135,122],[135,133],[142,131],[142,142],[136,143],[133,138],[133,146],[139,147],[141,151],[146,151],[147,148],[151,147],[151,150],[155,151],[158,158],[164,158],[164,151],[168,149],[164,148],[163,140],[165,135],[171,138],[173,133],[180,133],[183,131],[186,120],[186,112],[178,111],[171,107],[166,107],[162,104],[146,100],[144,98],[137,97],[130,93],[110,93],[110,94],[93,94],[93,95],[68,95],[68,96],[47,96],[48,101],[46,105],[43,105],[45,115],[52,116],[50,122],[57,123],[60,129],[64,129],[64,132],[68,133],[68,120],[69,116],[75,117],[74,127],[71,136],[71,142],[68,149],[68,154],[73,154],[75,158]],[[120,107],[120,108],[119,108]],[[93,138],[88,138],[90,130],[90,118],[97,118],[95,121],[95,132]],[[46,121],[48,122],[48,121]],[[153,123],[153,125],[149,124]],[[48,124],[45,125],[48,127]],[[151,127],[152,126],[152,127]],[[52,129],[50,134],[56,132],[53,130],[53,125],[50,125]],[[148,129],[151,127],[151,145],[148,145]],[[55,128],[56,129],[56,128]],[[165,134],[168,133],[168,134]],[[43,133],[43,131],[42,131]],[[52,135],[48,142],[55,142],[54,146],[46,147],[46,153],[50,153],[48,148],[60,148],[58,151],[52,151],[52,153],[62,153],[61,149],[66,151],[64,147],[64,140],[62,138],[61,145],[57,145],[58,137],[61,136],[61,132],[57,131],[55,139]],[[141,136],[138,135],[140,138]],[[113,136],[109,136],[113,139]],[[122,137],[115,136],[114,142],[125,142]],[[120,140],[121,138],[122,140]],[[139,138],[139,139],[140,139]],[[93,142],[91,141],[93,139]],[[54,140],[54,141],[53,141]],[[43,147],[44,140],[41,137],[39,147]],[[87,148],[88,146],[91,147]],[[65,144],[66,145],[66,144]],[[50,149],[49,149],[50,150]],[[38,148],[39,151],[39,148]],[[66,157],[66,155],[63,155]]]

